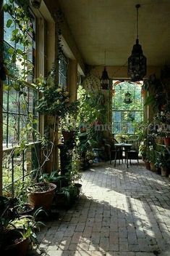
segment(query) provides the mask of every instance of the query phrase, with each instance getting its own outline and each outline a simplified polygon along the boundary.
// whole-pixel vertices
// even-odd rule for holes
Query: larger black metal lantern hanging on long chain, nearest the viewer
[[[143,80],[146,75],[146,57],[143,55],[143,49],[138,39],[138,9],[140,4],[136,5],[137,9],[137,39],[132,49],[132,55],[128,58],[128,75],[132,81]]]

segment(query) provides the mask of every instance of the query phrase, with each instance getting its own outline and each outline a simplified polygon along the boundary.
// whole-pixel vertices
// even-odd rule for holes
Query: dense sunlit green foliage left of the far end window
[[[77,145],[80,155],[96,146],[102,144],[102,126],[107,121],[107,108],[104,96],[101,92],[86,92],[80,87],[78,89],[78,100],[80,101],[77,114],[77,124],[85,132],[78,135]]]

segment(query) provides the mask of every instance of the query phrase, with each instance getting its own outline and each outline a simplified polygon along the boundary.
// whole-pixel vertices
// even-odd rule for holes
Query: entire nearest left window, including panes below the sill
[[[16,2],[13,7],[17,8]],[[4,1],[4,4],[9,3],[9,0]],[[11,25],[7,25],[8,21]],[[35,111],[38,93],[31,85],[35,66],[35,17],[31,11],[28,23],[30,29],[25,32],[24,39],[16,41],[14,33],[20,33],[22,38],[24,35],[22,28],[27,23],[21,20],[22,28],[20,28],[14,8],[10,14],[4,12],[4,59],[9,69],[9,76],[4,83],[3,91],[3,188],[4,191],[6,189],[7,192],[11,191],[13,196],[14,186],[17,188],[18,182],[22,182],[30,170],[38,167],[37,158],[34,156],[35,153],[39,156],[40,150],[39,143],[31,148],[36,132],[34,134],[23,132],[30,116],[33,119],[33,128],[39,129],[38,122],[35,121],[38,119],[38,113]],[[29,43],[25,43],[24,40]],[[13,148],[19,143],[22,144],[21,138],[24,138],[27,144],[30,143],[30,148],[16,153]]]

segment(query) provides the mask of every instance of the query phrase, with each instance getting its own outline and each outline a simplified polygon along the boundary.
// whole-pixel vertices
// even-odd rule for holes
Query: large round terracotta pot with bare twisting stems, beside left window
[[[35,184],[36,185],[36,184]],[[48,191],[43,191],[44,183],[38,183],[38,186],[42,188],[42,191],[31,191],[28,188],[28,202],[33,204],[34,207],[43,207],[44,209],[50,209],[51,203],[54,198],[54,192],[56,190],[56,185],[53,183],[48,183]]]

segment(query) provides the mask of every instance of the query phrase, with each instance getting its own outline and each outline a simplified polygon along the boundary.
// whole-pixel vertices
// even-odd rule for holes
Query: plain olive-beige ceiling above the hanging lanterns
[[[148,65],[170,64],[169,0],[59,0],[86,64],[126,65],[139,39]]]

